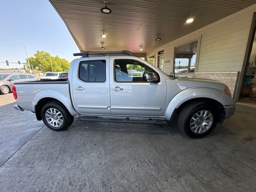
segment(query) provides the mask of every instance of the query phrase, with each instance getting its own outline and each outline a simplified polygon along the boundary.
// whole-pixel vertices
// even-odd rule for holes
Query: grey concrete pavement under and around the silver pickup
[[[256,108],[238,105],[194,140],[168,126],[76,120],[54,132],[12,105],[0,107],[0,191],[256,191]]]

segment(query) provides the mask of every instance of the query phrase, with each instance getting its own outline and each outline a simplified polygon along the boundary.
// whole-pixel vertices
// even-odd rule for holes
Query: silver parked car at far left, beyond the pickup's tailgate
[[[24,73],[2,73],[0,74],[0,92],[8,94],[12,90],[15,82],[25,82],[37,80],[32,74]]]

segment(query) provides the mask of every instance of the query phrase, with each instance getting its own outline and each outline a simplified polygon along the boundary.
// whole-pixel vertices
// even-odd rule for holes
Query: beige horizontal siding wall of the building
[[[196,72],[240,72],[256,4],[147,53],[164,50],[164,72],[173,71],[174,48],[200,38]],[[156,58],[157,62],[157,58]]]

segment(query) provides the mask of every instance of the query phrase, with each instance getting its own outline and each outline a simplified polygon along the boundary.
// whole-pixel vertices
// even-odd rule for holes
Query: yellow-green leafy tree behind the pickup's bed
[[[34,57],[30,57],[28,60],[34,69],[41,72],[50,72],[52,71],[52,68],[53,71],[67,72],[70,66],[70,62],[66,59],[60,58],[59,56],[51,56],[50,53],[44,51],[36,51]]]

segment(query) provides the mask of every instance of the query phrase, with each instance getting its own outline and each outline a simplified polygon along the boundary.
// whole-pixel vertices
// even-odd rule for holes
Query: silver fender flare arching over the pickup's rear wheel
[[[53,89],[44,89],[37,92],[34,98],[32,99],[33,108],[38,103],[38,101],[40,101],[43,98],[54,98],[60,101],[67,108],[67,110],[70,112],[72,116],[78,115],[78,113],[73,108],[73,105],[71,103],[71,98],[67,97],[62,92],[59,92]]]

